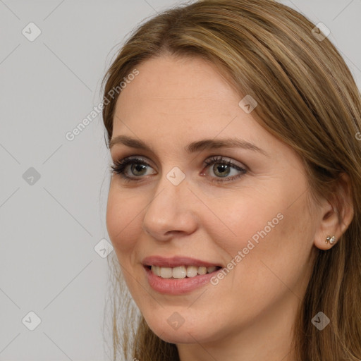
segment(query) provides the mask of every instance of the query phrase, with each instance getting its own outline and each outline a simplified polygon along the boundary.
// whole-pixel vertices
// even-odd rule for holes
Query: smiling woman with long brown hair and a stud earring
[[[361,99],[324,32],[197,1],[104,82],[114,360],[360,360]]]

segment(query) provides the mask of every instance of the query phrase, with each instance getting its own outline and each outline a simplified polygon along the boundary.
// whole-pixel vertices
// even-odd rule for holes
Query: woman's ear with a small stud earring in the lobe
[[[329,250],[338,242],[353,220],[351,182],[346,173],[342,173],[338,181],[336,181],[331,199],[324,199],[321,204],[321,221],[315,233],[314,245],[320,250]],[[336,242],[333,244],[326,243],[326,237],[332,237],[333,235]]]

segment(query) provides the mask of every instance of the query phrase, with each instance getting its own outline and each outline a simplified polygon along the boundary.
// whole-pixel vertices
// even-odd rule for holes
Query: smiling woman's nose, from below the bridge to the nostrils
[[[145,210],[142,228],[157,240],[174,235],[189,235],[197,229],[197,197],[189,188],[187,177],[174,185],[164,175]]]

